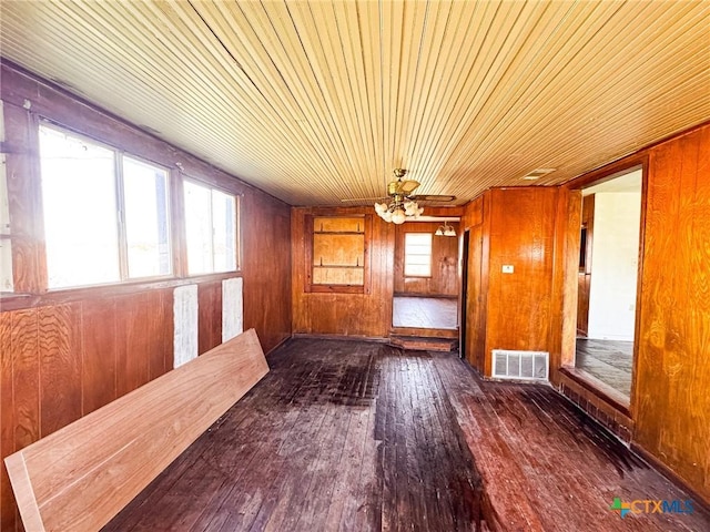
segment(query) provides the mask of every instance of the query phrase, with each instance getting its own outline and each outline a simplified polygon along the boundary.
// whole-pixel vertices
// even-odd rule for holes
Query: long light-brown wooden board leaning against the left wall
[[[261,378],[254,329],[6,458],[26,530],[98,530]]]

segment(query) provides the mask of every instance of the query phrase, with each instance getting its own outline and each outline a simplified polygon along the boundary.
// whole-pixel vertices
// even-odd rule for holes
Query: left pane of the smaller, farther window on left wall
[[[184,190],[187,272],[207,274],[213,270],[212,191],[189,181],[185,181]]]

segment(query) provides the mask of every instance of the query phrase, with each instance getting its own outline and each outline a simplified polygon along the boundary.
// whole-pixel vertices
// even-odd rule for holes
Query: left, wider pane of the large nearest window
[[[40,127],[50,288],[120,280],[113,152]]]

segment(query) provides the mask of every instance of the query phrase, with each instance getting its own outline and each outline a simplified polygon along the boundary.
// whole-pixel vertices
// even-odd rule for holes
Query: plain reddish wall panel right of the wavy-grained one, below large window
[[[82,403],[84,416],[116,398],[116,304],[113,298],[82,304]]]

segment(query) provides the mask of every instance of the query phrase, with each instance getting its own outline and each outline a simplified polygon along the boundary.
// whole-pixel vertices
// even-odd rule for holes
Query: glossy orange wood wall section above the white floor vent
[[[493,188],[466,211],[466,342],[474,351],[467,358],[486,376],[491,374],[493,349],[558,348],[551,325],[561,311],[561,296],[554,300],[559,202],[558,188]],[[513,273],[503,273],[504,265],[513,266]]]

